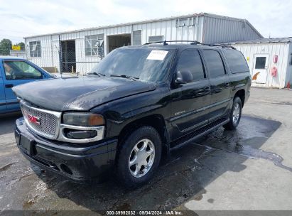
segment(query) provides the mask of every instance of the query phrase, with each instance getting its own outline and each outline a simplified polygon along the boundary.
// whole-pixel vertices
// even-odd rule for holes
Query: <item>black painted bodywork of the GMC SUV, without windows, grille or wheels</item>
[[[73,180],[93,178],[110,170],[116,152],[119,151],[119,139],[141,124],[156,128],[163,145],[169,150],[172,144],[179,143],[180,139],[190,136],[198,129],[216,122],[222,125],[229,117],[235,95],[241,97],[242,104],[247,102],[251,86],[249,71],[233,74],[222,48],[202,45],[168,46],[176,52],[165,82],[141,82],[125,77],[92,75],[81,79],[35,82],[13,88],[18,97],[33,106],[62,113],[87,111],[101,114],[105,119],[104,139],[86,144],[86,148],[83,144],[78,148],[77,144],[43,139],[27,129],[22,120],[16,121],[16,139],[18,134],[28,136],[33,140],[33,148],[36,148],[33,155],[25,153],[23,148],[20,148],[21,151],[35,163],[39,164],[36,158],[54,163],[58,168],[57,173]],[[137,48],[141,47],[163,49],[164,46],[144,45]],[[175,85],[180,55],[187,49],[198,50],[205,77],[195,82]],[[219,53],[224,75],[211,77],[202,50],[215,50]],[[72,175],[62,170],[60,165],[63,163],[70,166]]]

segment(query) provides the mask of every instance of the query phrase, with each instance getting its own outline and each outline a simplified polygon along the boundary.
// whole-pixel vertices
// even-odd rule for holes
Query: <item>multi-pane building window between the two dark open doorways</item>
[[[104,56],[104,34],[85,36],[85,55]]]

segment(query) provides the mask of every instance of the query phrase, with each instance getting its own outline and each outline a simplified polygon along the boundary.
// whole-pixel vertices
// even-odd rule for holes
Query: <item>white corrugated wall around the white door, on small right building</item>
[[[267,68],[267,78],[264,85],[252,84],[254,86],[263,87],[286,87],[287,80],[290,79],[288,72],[288,54],[289,54],[289,43],[252,43],[252,44],[235,44],[233,45],[237,50],[240,50],[244,57],[249,60],[247,61],[249,65],[249,70],[253,71],[254,68],[254,55],[256,54],[269,54],[269,65]],[[278,63],[274,63],[274,55],[278,55]],[[271,75],[271,68],[276,67],[278,73],[276,77]],[[289,70],[291,70],[289,65]]]

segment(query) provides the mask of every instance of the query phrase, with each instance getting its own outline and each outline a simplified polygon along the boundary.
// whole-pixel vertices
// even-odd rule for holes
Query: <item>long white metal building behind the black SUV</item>
[[[107,55],[123,45],[164,40],[222,43],[256,38],[262,38],[261,34],[245,19],[195,13],[31,36],[25,38],[25,44],[28,60],[40,67],[60,70],[61,66],[63,72],[72,69],[82,74],[99,62],[99,55]],[[62,52],[59,53],[60,48]]]

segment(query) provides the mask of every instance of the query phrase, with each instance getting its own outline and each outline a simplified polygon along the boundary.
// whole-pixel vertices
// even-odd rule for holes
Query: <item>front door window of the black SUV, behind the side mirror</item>
[[[189,71],[193,75],[193,81],[205,78],[202,67],[202,59],[198,50],[183,50],[178,60],[178,71]]]

